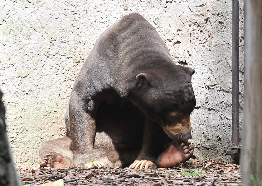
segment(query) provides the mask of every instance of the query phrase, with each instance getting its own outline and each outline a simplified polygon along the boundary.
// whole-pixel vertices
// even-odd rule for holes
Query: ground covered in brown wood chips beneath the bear
[[[241,185],[240,167],[214,160],[189,160],[175,168],[131,170],[73,167],[67,169],[36,168],[17,165],[23,184],[37,185],[64,179],[65,186],[85,185]]]

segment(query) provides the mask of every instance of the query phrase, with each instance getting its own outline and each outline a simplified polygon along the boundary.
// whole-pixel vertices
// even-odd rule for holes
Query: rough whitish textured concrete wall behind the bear
[[[230,160],[224,147],[231,141],[231,1],[0,0],[0,88],[15,161],[38,162],[41,142],[65,135],[76,75],[99,35],[131,12],[157,29],[177,64],[196,71],[191,116],[196,156]]]

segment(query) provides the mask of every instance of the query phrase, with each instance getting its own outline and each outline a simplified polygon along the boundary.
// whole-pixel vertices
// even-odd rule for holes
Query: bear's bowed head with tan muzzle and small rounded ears
[[[178,65],[141,72],[131,91],[132,102],[174,140],[192,137],[189,116],[196,106],[193,73],[192,68]]]

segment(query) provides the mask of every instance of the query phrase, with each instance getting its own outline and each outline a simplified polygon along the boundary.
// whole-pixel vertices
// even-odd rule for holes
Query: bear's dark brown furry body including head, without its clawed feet
[[[191,138],[193,73],[175,65],[142,16],[123,17],[99,37],[76,78],[66,137],[45,142],[40,157],[55,151],[78,163],[94,158],[121,166],[136,159],[156,162],[168,143]]]

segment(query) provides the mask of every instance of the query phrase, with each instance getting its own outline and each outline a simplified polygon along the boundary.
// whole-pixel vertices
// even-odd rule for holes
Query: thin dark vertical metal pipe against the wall
[[[239,142],[239,1],[232,0],[232,144]]]

